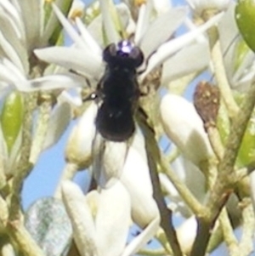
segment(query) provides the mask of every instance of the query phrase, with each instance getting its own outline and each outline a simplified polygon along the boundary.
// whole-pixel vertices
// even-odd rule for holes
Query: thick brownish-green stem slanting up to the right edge
[[[238,114],[233,117],[229,137],[225,145],[224,156],[218,164],[218,178],[207,200],[208,215],[198,218],[199,229],[190,256],[206,253],[207,243],[218,214],[234,190],[236,180],[235,159],[245,133],[247,123],[255,105],[255,83],[249,88]]]

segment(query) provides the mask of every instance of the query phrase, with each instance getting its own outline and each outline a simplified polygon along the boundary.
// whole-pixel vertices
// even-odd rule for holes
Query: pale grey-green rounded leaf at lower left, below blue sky
[[[63,255],[71,244],[71,222],[63,203],[53,197],[39,199],[25,215],[26,229],[47,256]]]

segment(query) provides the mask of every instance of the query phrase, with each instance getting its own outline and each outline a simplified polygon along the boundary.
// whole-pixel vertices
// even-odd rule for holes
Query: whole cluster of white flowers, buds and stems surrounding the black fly
[[[203,255],[218,246],[207,247],[218,232],[228,245],[234,240],[231,255],[250,246],[254,55],[235,24],[237,3],[187,3],[0,1],[0,232],[11,237],[8,250],[14,252],[14,241],[26,255],[48,255],[52,247],[52,255],[64,255],[74,243],[82,256]],[[139,47],[144,62],[133,81],[135,131],[113,141],[98,131],[105,100],[98,88],[109,69],[104,49],[122,40]],[[216,85],[202,82],[193,104],[181,94],[201,79]],[[54,199],[22,213],[26,176],[72,120]],[[162,151],[166,143],[170,149]],[[84,170],[91,179],[85,193],[72,181]],[[243,209],[238,201],[246,202]],[[65,237],[60,213],[72,227]],[[185,221],[175,230],[171,217],[179,214]],[[241,223],[239,244],[233,228]],[[141,231],[130,238],[133,225]],[[48,239],[49,232],[61,242]],[[153,238],[159,250],[146,248]]]

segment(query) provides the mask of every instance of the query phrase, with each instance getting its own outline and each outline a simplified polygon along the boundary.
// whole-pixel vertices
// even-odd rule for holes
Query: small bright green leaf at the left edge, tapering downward
[[[24,105],[22,95],[17,91],[8,94],[4,100],[3,110],[1,113],[3,138],[5,139],[8,148],[8,154],[20,133],[23,117]]]

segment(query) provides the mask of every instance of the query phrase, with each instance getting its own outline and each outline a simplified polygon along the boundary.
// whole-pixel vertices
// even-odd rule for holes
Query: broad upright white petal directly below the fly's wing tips
[[[120,181],[100,192],[95,223],[100,255],[121,255],[131,223],[131,205],[127,190]]]

